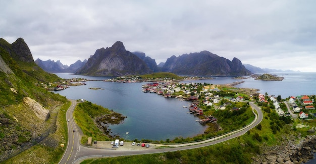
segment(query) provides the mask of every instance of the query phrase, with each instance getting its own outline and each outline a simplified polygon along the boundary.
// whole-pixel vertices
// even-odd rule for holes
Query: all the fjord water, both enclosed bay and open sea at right
[[[274,73],[284,76],[283,81],[260,81],[249,79],[234,79],[233,77],[214,76],[213,79],[187,80],[181,83],[209,83],[227,84],[235,81],[245,81],[235,87],[256,88],[260,93],[281,95],[282,98],[303,94],[315,94],[316,73]],[[57,74],[61,78],[86,78],[89,80],[104,80],[111,77],[91,77],[71,75],[68,73]],[[120,135],[129,140],[149,139],[166,140],[175,137],[192,137],[202,134],[205,126],[200,125],[197,117],[187,114],[186,101],[176,98],[164,98],[153,93],[143,93],[141,85],[145,83],[112,83],[104,81],[87,81],[87,85],[71,86],[68,89],[57,91],[70,99],[86,99],[117,113],[127,116],[123,124],[111,125],[112,135]],[[99,90],[89,87],[102,88]],[[129,134],[125,134],[129,132]]]

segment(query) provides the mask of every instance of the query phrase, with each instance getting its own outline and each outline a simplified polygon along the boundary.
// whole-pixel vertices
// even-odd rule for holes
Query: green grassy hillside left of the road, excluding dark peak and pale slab
[[[44,85],[54,84],[60,78],[44,72],[34,62],[14,60],[12,56],[17,54],[4,39],[0,39],[0,55],[0,162],[19,163],[19,159],[29,158],[32,163],[54,161],[49,158],[58,160],[64,151],[59,145],[67,142],[64,116],[70,104],[65,97],[47,91]],[[48,110],[49,119],[37,117],[33,107],[26,104],[26,97]],[[34,148],[40,151],[34,153]],[[25,153],[29,151],[32,153]],[[37,158],[42,160],[34,160]]]

